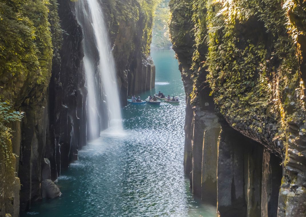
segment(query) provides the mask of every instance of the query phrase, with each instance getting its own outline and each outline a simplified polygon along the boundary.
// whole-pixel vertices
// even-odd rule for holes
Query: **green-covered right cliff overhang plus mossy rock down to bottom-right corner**
[[[306,180],[305,2],[172,0],[170,9],[180,63],[184,50],[192,52],[182,70],[183,79],[192,79],[191,104],[205,109],[199,103],[209,94],[221,119],[282,157],[278,216],[301,216],[306,210],[306,194],[297,190]]]

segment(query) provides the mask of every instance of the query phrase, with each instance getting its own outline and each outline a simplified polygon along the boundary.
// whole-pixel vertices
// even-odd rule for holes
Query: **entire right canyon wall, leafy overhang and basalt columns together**
[[[305,8],[170,1],[186,92],[185,174],[221,217],[306,216]]]

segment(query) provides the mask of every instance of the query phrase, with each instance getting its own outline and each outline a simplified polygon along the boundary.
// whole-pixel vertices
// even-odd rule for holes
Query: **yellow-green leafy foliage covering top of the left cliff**
[[[47,86],[53,56],[48,7],[55,1],[51,2],[0,2],[0,98],[12,101],[22,91]]]

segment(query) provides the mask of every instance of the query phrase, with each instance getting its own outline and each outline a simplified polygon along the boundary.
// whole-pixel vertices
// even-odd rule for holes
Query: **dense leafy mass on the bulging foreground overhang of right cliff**
[[[266,128],[262,120],[270,116],[283,132],[278,139],[286,140],[286,120],[293,110],[304,110],[302,89],[296,89],[300,71],[286,11],[278,1],[241,0],[224,7],[207,4],[208,80],[215,103],[234,123],[242,117],[252,120],[248,127],[254,134]],[[248,26],[252,23],[257,26]],[[239,28],[251,34],[242,35]],[[295,109],[290,108],[292,101]]]

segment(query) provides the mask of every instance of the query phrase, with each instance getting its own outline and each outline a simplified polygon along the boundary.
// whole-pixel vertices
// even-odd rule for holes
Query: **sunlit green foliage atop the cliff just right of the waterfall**
[[[118,41],[120,46],[120,56],[133,53],[136,48],[140,48],[144,55],[150,54],[150,44],[152,39],[152,25],[155,8],[160,0],[104,0],[104,11],[108,13],[107,23],[110,29],[111,38],[116,37],[118,27],[119,32],[125,32],[124,44]],[[117,28],[116,28],[117,27]],[[114,28],[114,31],[113,29]],[[137,40],[141,42],[135,44],[132,35],[137,34]]]

